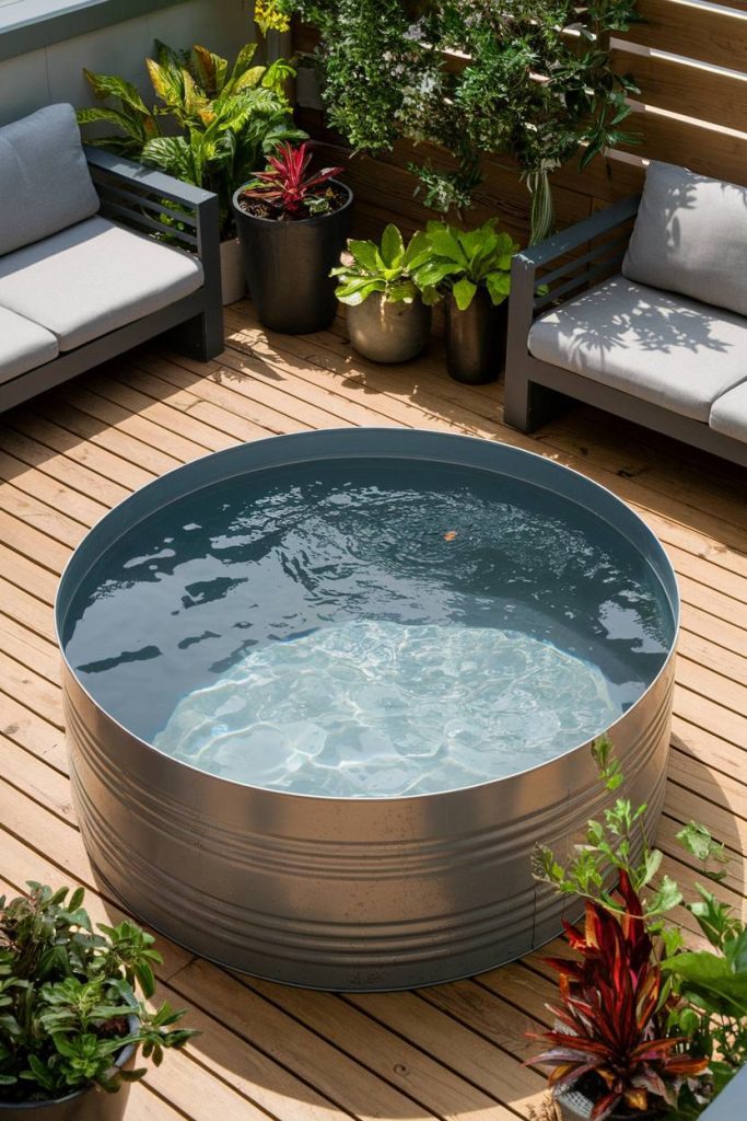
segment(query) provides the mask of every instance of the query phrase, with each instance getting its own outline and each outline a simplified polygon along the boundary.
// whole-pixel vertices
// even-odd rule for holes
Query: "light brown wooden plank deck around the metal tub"
[[[727,844],[723,893],[745,902],[747,472],[577,408],[539,438],[505,428],[501,387],[450,381],[437,344],[400,368],[352,358],[342,327],[268,336],[227,316],[208,367],[143,349],[0,417],[0,892],[28,879],[94,890],[71,808],[52,604],[73,547],[112,504],[207,452],[347,425],[450,429],[530,447],[609,487],[655,530],[680,575],[671,772],[660,844],[692,884],[674,834],[694,817]],[[526,1118],[543,1086],[522,1060],[547,1022],[539,956],[418,993],[284,989],[160,939],[161,994],[203,1032],[133,1087],[128,1121]]]

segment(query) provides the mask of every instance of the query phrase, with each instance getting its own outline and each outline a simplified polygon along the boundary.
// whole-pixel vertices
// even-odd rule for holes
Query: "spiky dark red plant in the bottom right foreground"
[[[708,1067],[707,1058],[687,1053],[685,1037],[661,1037],[663,978],[641,900],[625,872],[619,893],[624,911],[588,901],[583,933],[564,924],[580,957],[549,960],[559,975],[561,1007],[548,1006],[557,1029],[532,1036],[551,1044],[530,1062],[551,1068],[554,1093],[580,1080],[587,1086],[596,1081],[591,1121],[619,1109],[634,1115],[652,1106],[664,1110],[675,1104],[684,1078]]]

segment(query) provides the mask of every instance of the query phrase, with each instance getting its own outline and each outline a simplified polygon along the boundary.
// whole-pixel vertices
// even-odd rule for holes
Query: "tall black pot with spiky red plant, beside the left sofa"
[[[233,197],[246,280],[261,322],[298,335],[335,318],[335,280],[351,223],[353,192],[343,168],[310,169],[308,143],[283,143]]]

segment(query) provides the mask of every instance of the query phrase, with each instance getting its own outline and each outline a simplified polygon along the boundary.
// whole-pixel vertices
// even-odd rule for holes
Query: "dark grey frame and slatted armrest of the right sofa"
[[[576,295],[579,289],[592,286],[619,268],[629,237],[623,228],[637,213],[639,201],[639,195],[624,198],[514,258],[504,419],[512,427],[529,433],[562,411],[570,404],[569,399],[580,400],[747,466],[747,443],[715,432],[701,420],[680,416],[632,393],[551,365],[529,352],[530,328],[540,313],[561,302],[561,297]],[[605,240],[594,244],[598,238]],[[568,254],[579,249],[583,250],[580,256],[569,260]]]

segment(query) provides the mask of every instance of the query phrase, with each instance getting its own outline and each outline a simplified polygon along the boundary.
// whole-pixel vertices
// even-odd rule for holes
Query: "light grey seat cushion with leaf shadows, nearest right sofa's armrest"
[[[747,318],[622,276],[536,319],[529,349],[704,423],[713,401],[747,380]]]

